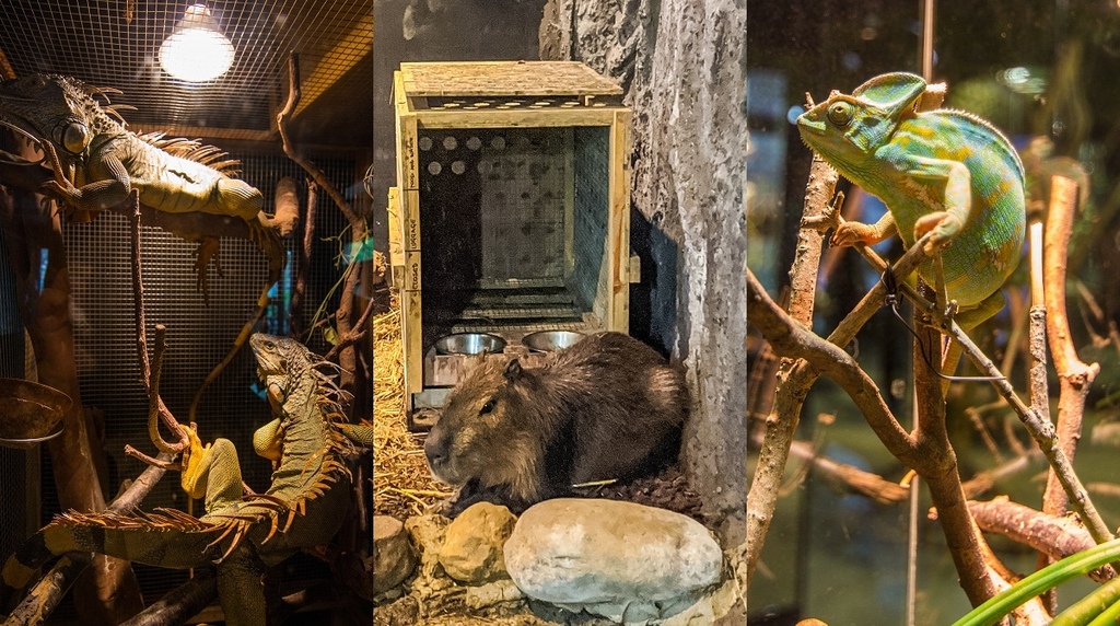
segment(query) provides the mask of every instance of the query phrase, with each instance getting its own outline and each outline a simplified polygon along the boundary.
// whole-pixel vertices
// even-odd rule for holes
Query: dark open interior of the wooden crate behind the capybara
[[[607,138],[420,129],[424,345],[451,331],[589,329],[606,265]]]

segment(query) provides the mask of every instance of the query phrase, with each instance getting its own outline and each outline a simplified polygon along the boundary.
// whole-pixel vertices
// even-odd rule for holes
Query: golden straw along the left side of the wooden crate
[[[423,438],[404,420],[404,363],[400,309],[373,320],[373,511],[405,520],[450,495],[436,482],[423,456]]]

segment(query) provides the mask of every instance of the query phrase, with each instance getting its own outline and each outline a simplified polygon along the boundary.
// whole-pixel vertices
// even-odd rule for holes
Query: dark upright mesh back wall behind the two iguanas
[[[265,198],[272,197],[276,181],[283,176],[304,180],[302,170],[283,156],[235,157],[242,161],[242,177],[261,188]],[[352,160],[315,160],[338,188],[355,186],[356,168]],[[300,195],[306,198],[302,185]],[[316,231],[320,237],[308,265],[309,314],[330,291],[340,272],[333,263],[337,244],[324,237],[337,236],[346,223],[324,194],[318,196],[317,215]],[[140,461],[124,455],[125,445],[148,454],[156,452],[147,432],[148,402],[140,383],[136,347],[130,228],[125,217],[110,213],[101,214],[91,224],[64,226],[82,402],[104,422],[110,495],[118,490],[123,479],[136,478],[144,468]],[[287,242],[289,249],[298,241],[301,241],[299,231]],[[140,261],[149,349],[153,349],[155,325],[167,326],[168,352],[160,394],[180,422],[187,421],[188,407],[199,384],[233,345],[268,281],[268,261],[255,244],[223,239],[221,264],[224,275],[216,275],[211,270],[209,305],[206,305],[196,290],[195,247],[164,231],[141,228]],[[273,334],[288,331],[283,315],[287,309],[282,303],[290,300],[291,277],[300,269],[298,254],[289,253],[289,259],[286,275],[272,291],[274,305],[260,327]],[[311,340],[308,345],[320,354],[325,352],[320,340]],[[239,353],[206,391],[196,420],[204,441],[218,437],[233,441],[240,451],[245,483],[255,490],[264,490],[271,467],[269,461],[253,454],[252,433],[271,418],[255,366],[248,347]],[[58,499],[49,460],[47,455],[44,457],[43,514],[44,518],[49,518],[58,512]],[[195,503],[195,506],[200,508],[200,504]],[[177,474],[165,476],[144,498],[144,510],[156,506],[187,508]],[[199,508],[195,510],[196,515],[203,513]],[[290,570],[288,578],[306,580],[327,574],[324,566],[309,558],[296,559],[287,568]],[[149,599],[162,596],[186,578],[186,572],[143,566],[137,566],[137,572],[141,591]]]

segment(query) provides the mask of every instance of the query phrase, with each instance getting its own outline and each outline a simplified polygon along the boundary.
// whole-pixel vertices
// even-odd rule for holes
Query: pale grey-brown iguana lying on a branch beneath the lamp
[[[127,202],[132,189],[140,191],[142,204],[160,212],[240,217],[278,277],[286,261],[283,245],[261,212],[261,191],[230,177],[237,161],[223,160],[225,152],[197,141],[127,130],[116,112],[120,105],[102,106],[94,99],[110,93],[120,92],[59,75],[0,82],[0,125],[31,140],[54,169],[54,180],[43,190],[68,206],[72,219],[83,222]],[[217,240],[204,237],[197,256],[198,284],[207,297],[211,261],[221,271]]]

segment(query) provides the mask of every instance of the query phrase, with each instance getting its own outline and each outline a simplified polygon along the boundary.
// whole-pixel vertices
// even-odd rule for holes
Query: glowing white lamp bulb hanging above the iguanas
[[[233,64],[233,44],[205,4],[192,4],[159,47],[159,64],[171,76],[192,83],[213,81]]]

